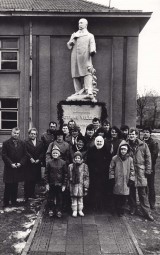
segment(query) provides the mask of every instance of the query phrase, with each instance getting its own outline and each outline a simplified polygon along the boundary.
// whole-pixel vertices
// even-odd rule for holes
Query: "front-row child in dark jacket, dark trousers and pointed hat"
[[[67,165],[60,159],[60,149],[55,145],[52,158],[47,162],[45,171],[46,190],[48,191],[49,215],[62,217],[62,192],[67,184]],[[56,200],[56,203],[55,203]]]

